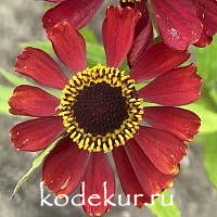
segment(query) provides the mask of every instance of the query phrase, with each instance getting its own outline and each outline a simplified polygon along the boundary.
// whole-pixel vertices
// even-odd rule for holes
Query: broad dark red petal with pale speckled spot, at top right
[[[159,33],[168,46],[186,50],[200,39],[203,25],[193,1],[151,0],[151,4]]]

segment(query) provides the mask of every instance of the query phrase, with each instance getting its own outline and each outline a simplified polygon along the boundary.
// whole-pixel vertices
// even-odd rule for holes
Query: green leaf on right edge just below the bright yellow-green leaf
[[[204,137],[204,167],[212,183],[217,187],[217,133]]]

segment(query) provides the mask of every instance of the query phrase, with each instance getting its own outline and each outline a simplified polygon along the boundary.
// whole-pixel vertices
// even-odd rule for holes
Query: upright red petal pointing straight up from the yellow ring
[[[110,7],[102,34],[107,66],[118,67],[129,52],[140,13],[131,8]]]

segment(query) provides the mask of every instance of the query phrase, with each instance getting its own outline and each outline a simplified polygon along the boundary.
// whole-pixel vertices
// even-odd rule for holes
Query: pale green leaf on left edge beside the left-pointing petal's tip
[[[10,115],[8,101],[13,93],[13,88],[0,85],[0,113],[3,115]]]

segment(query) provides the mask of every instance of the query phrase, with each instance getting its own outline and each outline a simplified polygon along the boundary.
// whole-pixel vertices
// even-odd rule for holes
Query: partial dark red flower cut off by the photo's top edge
[[[44,27],[68,20],[75,28],[85,26],[103,2],[103,0],[47,1],[61,3],[44,14]],[[146,13],[145,4],[150,3],[151,13],[155,17],[164,42],[177,50],[186,50],[190,44],[205,47],[217,33],[216,0],[119,0],[119,2],[122,7],[138,8],[143,14]],[[148,23],[143,24],[143,27],[146,27]]]

